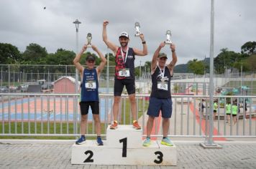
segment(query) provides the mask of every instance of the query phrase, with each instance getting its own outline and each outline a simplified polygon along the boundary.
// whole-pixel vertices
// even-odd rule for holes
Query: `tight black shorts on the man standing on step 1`
[[[114,96],[121,96],[124,86],[128,95],[135,93],[135,79],[114,79]]]

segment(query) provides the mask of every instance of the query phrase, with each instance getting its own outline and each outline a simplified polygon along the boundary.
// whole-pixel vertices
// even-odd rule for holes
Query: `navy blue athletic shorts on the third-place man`
[[[157,99],[156,97],[150,97],[150,105],[147,109],[147,115],[159,117],[160,110],[163,118],[170,118],[173,111],[172,99]]]

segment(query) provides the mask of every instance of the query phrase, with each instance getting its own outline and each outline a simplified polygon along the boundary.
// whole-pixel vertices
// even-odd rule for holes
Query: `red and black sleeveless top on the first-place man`
[[[115,78],[116,79],[134,79],[134,50],[129,47],[127,58],[126,52],[123,52],[122,56],[121,47],[116,52],[116,67],[115,67]]]

